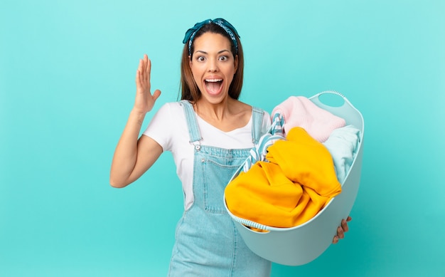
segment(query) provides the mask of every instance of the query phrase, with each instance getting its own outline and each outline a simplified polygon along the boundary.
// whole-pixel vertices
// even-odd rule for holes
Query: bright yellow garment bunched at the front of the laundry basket
[[[331,154],[301,127],[269,146],[266,159],[227,184],[225,201],[235,216],[289,228],[313,218],[341,192]]]

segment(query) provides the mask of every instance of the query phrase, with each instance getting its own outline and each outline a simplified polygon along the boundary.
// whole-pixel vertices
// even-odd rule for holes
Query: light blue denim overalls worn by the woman
[[[224,189],[250,149],[226,150],[200,145],[191,103],[181,101],[190,141],[195,145],[192,206],[176,226],[168,276],[270,276],[271,262],[247,248],[224,207]],[[262,110],[252,111],[252,140],[262,135]]]

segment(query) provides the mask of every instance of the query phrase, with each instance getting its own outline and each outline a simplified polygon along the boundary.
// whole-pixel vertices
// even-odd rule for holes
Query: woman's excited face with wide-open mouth
[[[238,57],[234,58],[230,51],[230,41],[219,33],[203,33],[195,38],[192,57],[190,68],[201,99],[221,103],[227,98],[238,65]]]

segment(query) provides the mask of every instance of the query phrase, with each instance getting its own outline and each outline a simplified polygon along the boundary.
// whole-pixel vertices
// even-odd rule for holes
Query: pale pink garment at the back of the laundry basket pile
[[[302,127],[318,142],[325,142],[333,130],[344,127],[343,118],[329,113],[304,96],[291,96],[272,110],[272,116],[284,117],[284,134],[293,127]]]

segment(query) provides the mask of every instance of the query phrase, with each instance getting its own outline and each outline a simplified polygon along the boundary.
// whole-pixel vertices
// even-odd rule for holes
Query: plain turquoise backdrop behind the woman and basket
[[[224,17],[241,100],[346,95],[365,117],[350,231],[272,276],[445,276],[444,1],[31,1],[0,8],[0,276],[166,276],[181,184],[169,153],[125,189],[114,147],[148,53],[174,101],[183,34]],[[146,123],[152,114],[146,118]]]

